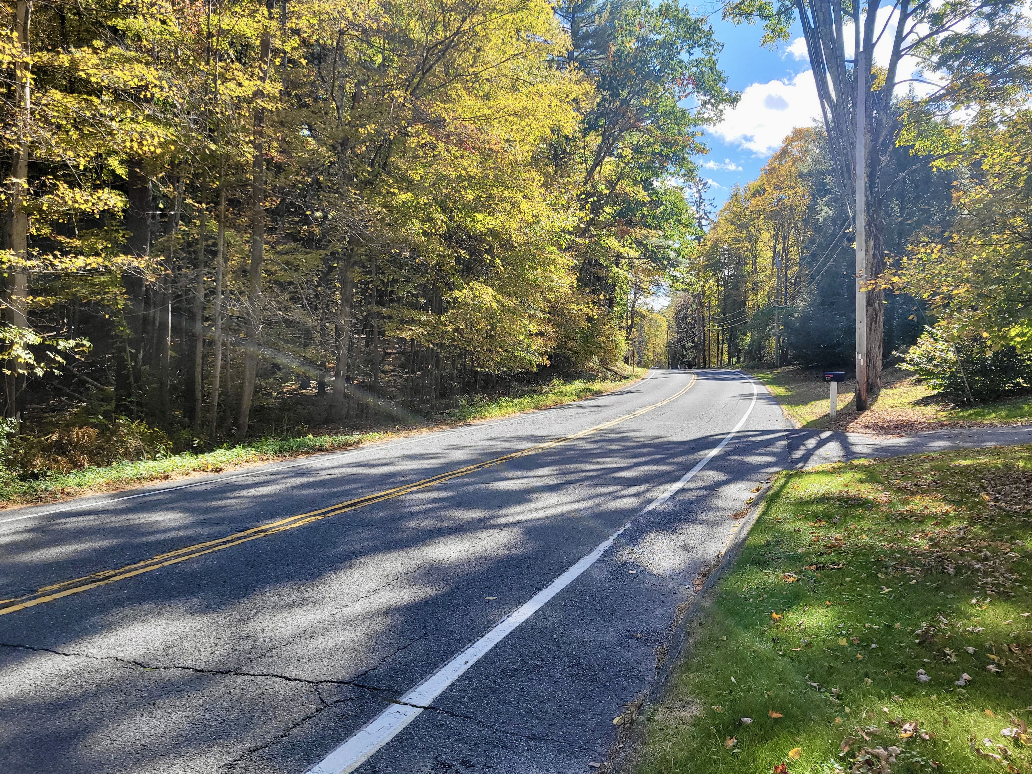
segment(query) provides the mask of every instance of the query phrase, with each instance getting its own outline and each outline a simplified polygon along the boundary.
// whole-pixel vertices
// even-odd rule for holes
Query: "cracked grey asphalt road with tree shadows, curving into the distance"
[[[789,464],[753,395],[734,372],[652,372],[515,419],[0,512],[0,771],[302,774],[385,710],[411,723],[363,774],[589,771],[728,515]],[[406,700],[430,676],[443,690]]]

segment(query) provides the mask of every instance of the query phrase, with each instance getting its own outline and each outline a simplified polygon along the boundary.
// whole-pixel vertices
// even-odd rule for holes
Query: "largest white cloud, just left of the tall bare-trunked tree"
[[[752,84],[742,99],[713,127],[713,133],[729,144],[756,154],[776,150],[793,129],[810,126],[820,118],[817,90],[810,70],[786,80]]]

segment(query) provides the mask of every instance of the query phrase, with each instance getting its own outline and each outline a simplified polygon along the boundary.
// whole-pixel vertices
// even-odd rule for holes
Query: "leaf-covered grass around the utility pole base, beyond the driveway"
[[[941,427],[967,427],[1032,422],[1032,395],[973,407],[955,407],[899,368],[884,372],[881,391],[871,396],[868,411],[852,404],[856,382],[839,385],[838,416],[828,416],[828,385],[820,372],[789,366],[751,372],[777,397],[802,427],[900,434]]]

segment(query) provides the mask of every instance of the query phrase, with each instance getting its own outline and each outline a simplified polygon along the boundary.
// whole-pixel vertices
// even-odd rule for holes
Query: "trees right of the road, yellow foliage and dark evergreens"
[[[727,9],[765,20],[772,39],[806,9],[811,64],[834,88],[821,95],[824,124],[785,137],[718,213],[705,185],[694,189],[706,234],[664,316],[675,363],[853,365],[856,164],[842,147],[856,131],[835,135],[856,121],[854,68],[845,69],[851,52],[817,39],[834,24],[818,5],[741,0]],[[880,63],[868,56],[865,68],[868,387],[878,389],[882,365],[903,364],[959,401],[1032,392],[1029,18],[1015,3],[894,8],[892,53]],[[837,39],[852,23],[854,50],[869,54],[876,15],[867,14],[861,49],[856,6],[840,10]],[[935,79],[904,77],[904,58]]]

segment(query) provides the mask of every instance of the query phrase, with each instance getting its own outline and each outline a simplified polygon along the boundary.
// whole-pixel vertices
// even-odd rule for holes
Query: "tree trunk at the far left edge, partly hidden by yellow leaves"
[[[27,261],[29,256],[29,215],[23,205],[29,187],[29,122],[32,110],[32,82],[29,62],[29,25],[32,21],[30,0],[18,0],[14,17],[14,37],[26,60],[14,63],[15,89],[19,91],[21,116],[19,116],[18,140],[14,143],[10,179],[7,186],[7,217],[4,222],[5,247],[14,253],[17,261]],[[29,296],[29,276],[25,266],[14,266],[8,276],[7,305],[4,318],[17,328],[28,328],[26,315]],[[19,377],[14,373],[19,363],[8,362],[4,388],[4,418],[18,419]]]

